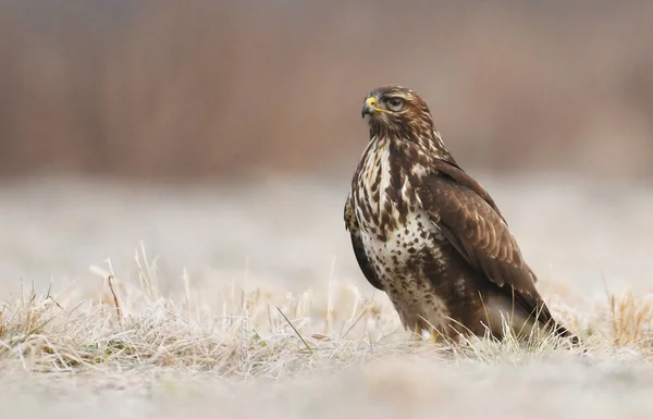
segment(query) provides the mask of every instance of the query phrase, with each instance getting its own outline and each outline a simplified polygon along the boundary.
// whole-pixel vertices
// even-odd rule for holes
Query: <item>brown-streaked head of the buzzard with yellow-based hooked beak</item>
[[[362,118],[368,116],[372,132],[432,131],[433,120],[427,102],[403,86],[383,86],[365,98]]]

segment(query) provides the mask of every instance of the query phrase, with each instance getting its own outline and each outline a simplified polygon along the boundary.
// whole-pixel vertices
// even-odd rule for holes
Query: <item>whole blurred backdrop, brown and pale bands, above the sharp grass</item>
[[[651,1],[0,0],[0,296],[97,293],[88,267],[108,259],[132,281],[140,243],[170,289],[187,273],[205,292],[371,293],[342,211],[364,97],[395,83],[428,100],[543,292],[648,287],[652,16]]]

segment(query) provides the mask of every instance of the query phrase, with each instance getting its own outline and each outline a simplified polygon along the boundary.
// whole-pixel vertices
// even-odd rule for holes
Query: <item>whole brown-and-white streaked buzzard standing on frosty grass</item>
[[[553,319],[504,217],[446,149],[427,102],[383,86],[366,97],[366,116],[370,140],[345,225],[360,270],[403,325],[455,342],[544,330],[578,343]]]

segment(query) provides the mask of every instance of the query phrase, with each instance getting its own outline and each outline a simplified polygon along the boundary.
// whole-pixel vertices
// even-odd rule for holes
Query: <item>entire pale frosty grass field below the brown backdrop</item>
[[[479,177],[587,353],[402,331],[347,180],[0,186],[2,418],[653,417],[653,188]]]

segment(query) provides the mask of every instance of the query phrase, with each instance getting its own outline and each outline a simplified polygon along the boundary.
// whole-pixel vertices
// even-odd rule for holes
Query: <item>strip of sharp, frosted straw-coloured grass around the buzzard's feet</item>
[[[574,310],[565,295],[549,298],[556,318],[582,338],[580,348],[553,336],[530,344],[510,337],[465,337],[452,344],[404,331],[384,296],[367,298],[354,286],[336,289],[330,284],[321,307],[309,292],[238,292],[232,285],[209,306],[192,298],[193,282],[185,274],[184,295],[178,300],[163,297],[155,263],[141,249],[136,283],[119,281],[110,263],[109,271],[93,267],[106,285],[96,298],[30,289],[3,304],[0,365],[34,372],[175,367],[225,378],[279,379],[412,355],[454,363],[517,363],[552,354],[612,356],[620,350],[653,358],[653,304],[650,296],[632,292],[607,293],[604,300]]]

